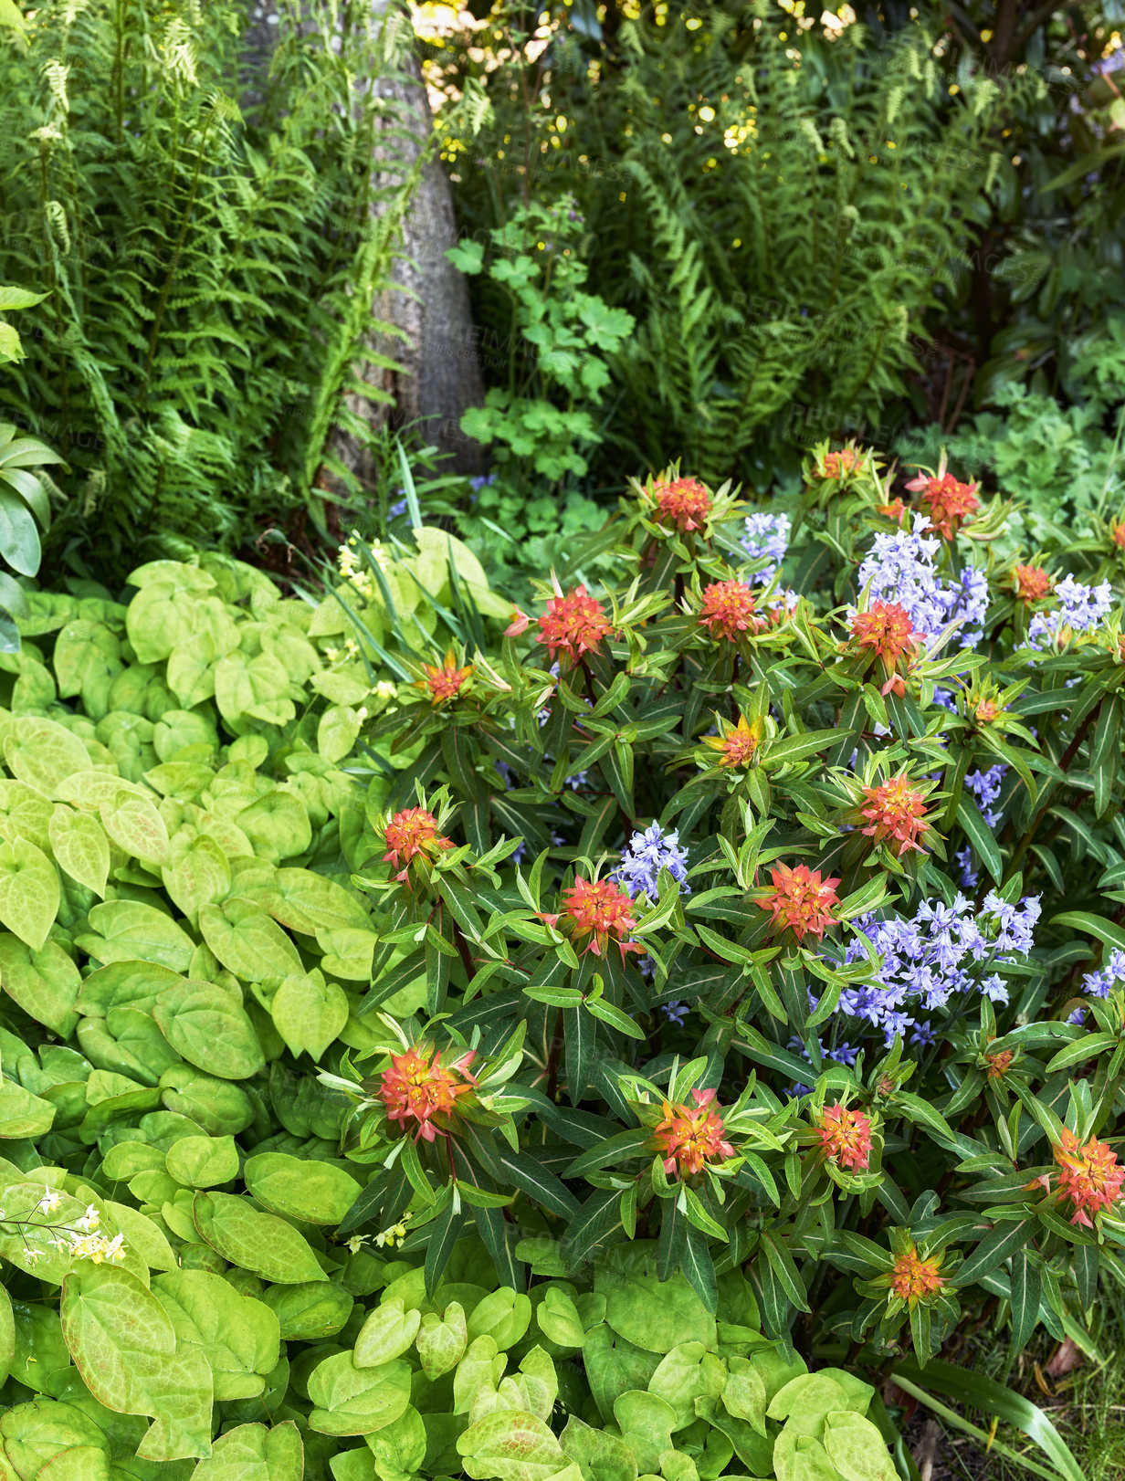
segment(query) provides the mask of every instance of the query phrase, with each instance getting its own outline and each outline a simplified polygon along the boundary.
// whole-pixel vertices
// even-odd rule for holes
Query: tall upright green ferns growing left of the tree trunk
[[[324,533],[351,367],[392,363],[363,342],[416,178],[363,166],[395,160],[397,105],[352,86],[397,76],[409,28],[366,0],[338,21],[280,28],[247,118],[237,4],[47,3],[22,46],[0,30],[0,278],[50,298],[0,403],[81,477],[64,569],[121,579],[305,515]]]

